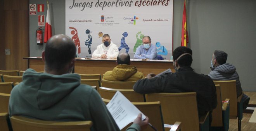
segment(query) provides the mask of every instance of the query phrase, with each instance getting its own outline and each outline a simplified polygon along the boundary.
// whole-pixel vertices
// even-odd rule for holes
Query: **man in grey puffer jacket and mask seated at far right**
[[[235,71],[235,66],[226,63],[228,54],[221,50],[215,50],[211,59],[211,72],[208,76],[214,81],[230,81],[236,80],[237,97],[242,94],[242,88],[239,75]]]

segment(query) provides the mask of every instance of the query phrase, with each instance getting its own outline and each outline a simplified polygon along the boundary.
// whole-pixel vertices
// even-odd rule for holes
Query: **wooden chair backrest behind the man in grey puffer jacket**
[[[230,99],[230,119],[237,119],[237,89],[235,80],[232,81],[213,81],[215,84],[220,85],[221,101],[226,98]]]

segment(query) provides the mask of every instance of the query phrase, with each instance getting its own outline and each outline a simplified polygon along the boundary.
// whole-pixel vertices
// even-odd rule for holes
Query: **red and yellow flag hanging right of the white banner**
[[[187,15],[186,15],[186,0],[184,0],[183,7],[183,18],[182,18],[182,40],[180,46],[187,46],[189,43],[189,35],[187,31]]]

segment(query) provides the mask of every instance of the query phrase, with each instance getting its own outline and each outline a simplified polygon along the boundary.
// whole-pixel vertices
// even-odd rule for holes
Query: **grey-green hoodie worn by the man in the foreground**
[[[10,116],[47,121],[92,121],[92,131],[119,130],[99,93],[80,84],[78,74],[52,75],[28,69],[22,80],[12,89]],[[133,126],[140,128],[137,124]]]

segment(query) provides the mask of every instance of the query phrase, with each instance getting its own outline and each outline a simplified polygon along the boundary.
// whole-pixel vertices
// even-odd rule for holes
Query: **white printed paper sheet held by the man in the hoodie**
[[[116,92],[106,106],[120,130],[133,122],[139,113],[142,114],[142,119],[146,118],[145,115],[119,91]]]

